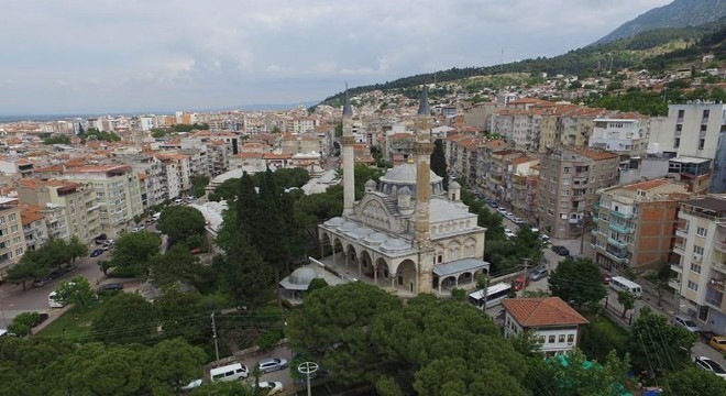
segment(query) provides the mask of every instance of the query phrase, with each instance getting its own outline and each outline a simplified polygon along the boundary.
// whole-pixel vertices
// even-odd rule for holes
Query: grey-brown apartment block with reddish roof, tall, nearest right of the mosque
[[[581,237],[598,189],[617,183],[619,156],[591,148],[561,148],[540,162],[539,228],[559,239]]]

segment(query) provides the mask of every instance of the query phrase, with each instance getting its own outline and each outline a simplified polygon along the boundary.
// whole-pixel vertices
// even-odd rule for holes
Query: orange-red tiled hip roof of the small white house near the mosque
[[[548,327],[588,323],[560,297],[509,298],[504,309],[522,327]]]

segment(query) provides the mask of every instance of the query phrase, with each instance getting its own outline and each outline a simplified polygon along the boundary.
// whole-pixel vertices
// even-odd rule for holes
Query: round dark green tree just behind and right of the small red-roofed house
[[[597,264],[587,257],[565,258],[550,274],[548,283],[552,296],[578,308],[597,309],[600,301],[607,296]]]

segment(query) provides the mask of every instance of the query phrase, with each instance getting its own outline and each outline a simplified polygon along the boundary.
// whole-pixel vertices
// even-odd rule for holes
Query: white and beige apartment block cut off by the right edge
[[[711,195],[681,202],[669,285],[681,307],[714,331],[726,332],[726,196]],[[683,312],[682,314],[686,314]]]

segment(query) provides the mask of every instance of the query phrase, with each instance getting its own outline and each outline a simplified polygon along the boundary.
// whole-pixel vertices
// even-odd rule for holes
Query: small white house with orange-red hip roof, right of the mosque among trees
[[[504,337],[531,331],[548,356],[564,354],[580,344],[581,327],[588,321],[560,297],[508,298],[504,306]]]

